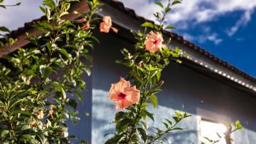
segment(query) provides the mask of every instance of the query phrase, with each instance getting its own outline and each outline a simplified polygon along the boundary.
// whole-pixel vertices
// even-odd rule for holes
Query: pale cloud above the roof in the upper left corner
[[[0,26],[15,30],[18,27],[23,27],[24,23],[40,18],[43,15],[39,10],[42,0],[7,0],[4,1],[4,4],[16,4],[18,1],[21,2],[19,6],[7,7],[7,9],[0,7]]]

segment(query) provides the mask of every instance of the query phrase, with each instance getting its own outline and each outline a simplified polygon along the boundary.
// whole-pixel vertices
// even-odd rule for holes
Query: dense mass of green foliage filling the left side
[[[75,108],[86,88],[83,75],[91,74],[96,39],[93,25],[81,26],[94,21],[92,15],[102,5],[88,1],[91,12],[83,14],[85,23],[76,23],[64,19],[75,2],[44,0],[40,10],[47,20],[34,23],[42,34],[29,37],[29,48],[1,58],[1,143],[70,143],[75,137],[68,134],[67,121],[80,120]]]

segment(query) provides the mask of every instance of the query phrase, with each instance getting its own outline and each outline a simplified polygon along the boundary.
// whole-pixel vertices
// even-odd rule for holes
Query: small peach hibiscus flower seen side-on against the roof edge
[[[102,23],[99,24],[99,31],[104,32],[104,33],[108,33],[110,31],[110,29],[112,29],[116,33],[118,32],[118,29],[116,29],[112,26],[111,17],[110,16],[105,16],[102,19]]]

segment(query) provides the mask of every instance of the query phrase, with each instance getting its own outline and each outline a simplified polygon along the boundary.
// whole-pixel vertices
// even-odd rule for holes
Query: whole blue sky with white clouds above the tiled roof
[[[8,4],[18,0],[7,0]],[[138,15],[154,19],[159,10],[154,0],[119,0]],[[167,0],[161,0],[166,3]],[[19,7],[0,9],[0,26],[17,29],[42,16],[42,0],[22,0]],[[195,42],[210,53],[256,77],[256,1],[255,0],[183,0],[167,15],[166,23],[174,32]]]

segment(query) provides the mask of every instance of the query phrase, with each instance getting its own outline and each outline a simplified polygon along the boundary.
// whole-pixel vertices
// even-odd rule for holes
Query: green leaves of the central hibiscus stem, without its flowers
[[[163,15],[155,13],[157,20],[162,23],[165,19],[167,7],[170,7],[170,1],[167,7],[164,7],[161,2],[156,2],[159,7],[163,9]],[[165,12],[166,10],[166,12]],[[159,26],[151,22],[145,22],[142,27],[153,29],[155,32],[161,33],[162,24]],[[173,29],[173,26],[166,26],[165,29]],[[162,69],[168,66],[170,60],[181,61],[178,58],[184,56],[184,53],[176,48],[171,50],[167,46],[162,47],[156,53],[149,53],[146,50],[146,31],[143,33],[138,31],[137,33],[132,31],[137,43],[135,44],[135,51],[130,53],[129,50],[121,50],[124,56],[123,60],[117,61],[118,64],[123,64],[129,68],[127,79],[132,86],[140,89],[140,102],[136,105],[127,107],[126,112],[116,113],[116,134],[110,138],[106,143],[154,143],[162,142],[165,140],[165,134],[173,132],[175,130],[181,130],[177,127],[177,124],[184,118],[189,117],[187,113],[176,112],[176,116],[173,117],[173,121],[166,119],[163,124],[166,129],[159,129],[157,127],[148,127],[146,119],[150,118],[154,121],[154,114],[148,111],[148,100],[150,99],[154,109],[157,108],[157,93],[162,91],[163,81],[161,80]],[[167,43],[169,45],[169,43]],[[154,132],[148,129],[154,129]]]

